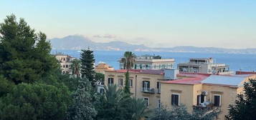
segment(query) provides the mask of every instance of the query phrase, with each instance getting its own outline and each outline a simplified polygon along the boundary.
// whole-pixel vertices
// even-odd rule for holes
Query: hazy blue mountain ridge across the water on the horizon
[[[151,48],[148,46],[128,44],[123,41],[98,43],[84,36],[65,36],[64,38],[49,39],[52,49],[90,49],[101,51],[169,51],[191,53],[227,53],[227,54],[256,54],[256,49],[223,49],[216,47],[176,46],[170,48]]]

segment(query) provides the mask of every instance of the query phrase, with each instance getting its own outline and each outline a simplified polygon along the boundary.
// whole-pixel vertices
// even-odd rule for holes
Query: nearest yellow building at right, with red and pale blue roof
[[[173,107],[184,104],[193,109],[217,109],[222,112],[217,119],[228,114],[229,104],[233,104],[237,94],[243,93],[243,84],[248,79],[256,79],[255,74],[207,75],[161,82],[161,103]]]

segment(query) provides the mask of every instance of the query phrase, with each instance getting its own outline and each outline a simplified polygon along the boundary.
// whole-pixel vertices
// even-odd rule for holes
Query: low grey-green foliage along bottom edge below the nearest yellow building
[[[168,110],[166,107],[161,106],[156,109],[154,114],[150,116],[151,120],[213,120],[220,113],[219,109],[204,110],[194,109],[192,114],[186,110],[186,106],[174,106],[173,109]]]

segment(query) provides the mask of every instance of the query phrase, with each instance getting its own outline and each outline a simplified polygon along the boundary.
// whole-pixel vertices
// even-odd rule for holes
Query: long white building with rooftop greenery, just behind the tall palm
[[[123,61],[119,63],[120,69],[123,69]],[[161,56],[136,56],[133,69],[174,69],[174,63],[174,59],[161,59]]]

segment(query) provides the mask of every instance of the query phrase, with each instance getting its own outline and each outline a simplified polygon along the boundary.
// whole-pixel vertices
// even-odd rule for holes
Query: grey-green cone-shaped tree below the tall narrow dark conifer
[[[93,120],[97,111],[93,106],[90,91],[90,82],[87,79],[80,79],[79,86],[73,94],[74,104],[68,112],[68,120]]]

